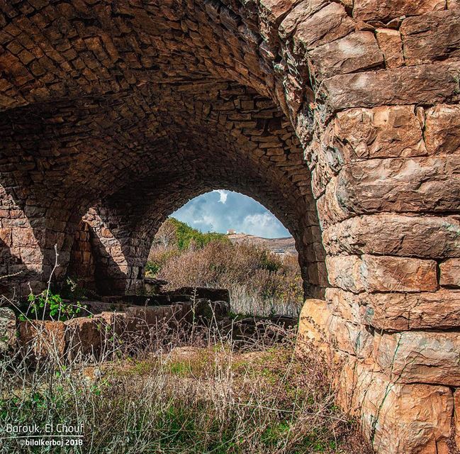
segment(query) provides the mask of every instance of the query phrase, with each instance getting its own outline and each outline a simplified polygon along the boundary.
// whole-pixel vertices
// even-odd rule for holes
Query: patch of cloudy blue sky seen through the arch
[[[191,199],[171,216],[202,232],[237,232],[264,238],[290,236],[283,224],[259,202],[232,191],[207,192]]]

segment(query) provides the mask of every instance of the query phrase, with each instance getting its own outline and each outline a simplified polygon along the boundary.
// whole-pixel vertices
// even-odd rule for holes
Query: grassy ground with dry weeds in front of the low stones
[[[2,363],[0,428],[83,424],[84,438],[54,448],[2,440],[0,452],[368,453],[334,404],[327,368],[293,348],[288,336],[276,345],[235,350],[221,341],[86,367]]]

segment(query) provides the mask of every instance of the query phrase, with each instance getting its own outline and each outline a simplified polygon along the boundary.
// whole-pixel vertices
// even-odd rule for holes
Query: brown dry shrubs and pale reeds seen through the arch
[[[169,289],[229,289],[237,314],[296,316],[301,309],[302,277],[294,257],[283,258],[246,243],[211,242],[183,253],[159,248],[150,258],[157,264],[157,277],[167,280]]]

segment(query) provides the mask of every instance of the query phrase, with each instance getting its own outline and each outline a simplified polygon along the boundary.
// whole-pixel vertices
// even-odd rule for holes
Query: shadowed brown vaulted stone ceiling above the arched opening
[[[68,260],[90,206],[112,208],[122,243],[148,243],[193,195],[226,188],[271,209],[298,242],[305,289],[325,287],[312,267],[324,254],[313,248],[310,172],[254,11],[219,1],[4,8],[1,184],[47,238],[43,264],[53,242]],[[38,261],[36,245],[14,251],[13,263]]]

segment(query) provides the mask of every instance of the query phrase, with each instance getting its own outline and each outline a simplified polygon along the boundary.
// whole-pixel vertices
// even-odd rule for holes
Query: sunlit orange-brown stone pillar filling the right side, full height
[[[330,286],[305,303],[317,319],[305,330],[335,346],[340,402],[378,453],[448,453],[460,438],[459,4],[292,3],[263,1],[261,14],[327,255]]]

